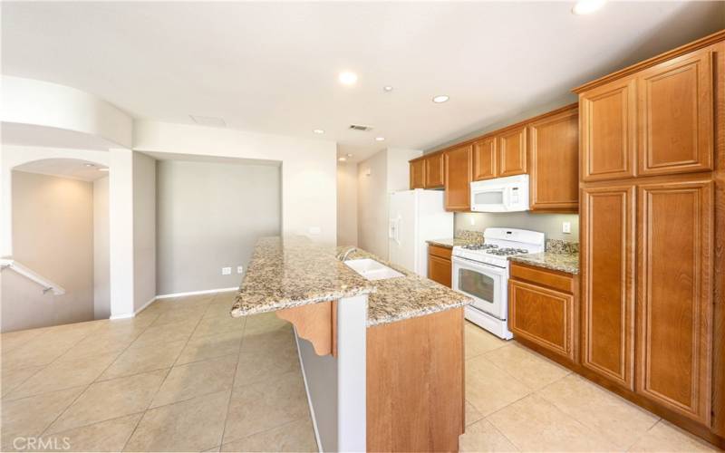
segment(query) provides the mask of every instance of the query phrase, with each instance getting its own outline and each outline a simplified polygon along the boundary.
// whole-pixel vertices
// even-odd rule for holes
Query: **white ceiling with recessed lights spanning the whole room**
[[[588,16],[572,5],[3,2],[2,63],[138,118],[221,117],[336,140],[358,160],[574,101],[582,82],[725,28],[723,2],[610,2]],[[337,82],[343,70],[355,86]]]

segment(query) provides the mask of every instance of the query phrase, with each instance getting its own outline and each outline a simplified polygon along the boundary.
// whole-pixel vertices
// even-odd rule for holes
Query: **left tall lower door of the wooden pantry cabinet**
[[[582,191],[582,364],[634,390],[634,188]]]

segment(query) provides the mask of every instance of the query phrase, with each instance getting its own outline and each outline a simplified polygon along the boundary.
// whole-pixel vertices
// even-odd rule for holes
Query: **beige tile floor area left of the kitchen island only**
[[[2,334],[0,450],[316,451],[291,325],[232,296]]]

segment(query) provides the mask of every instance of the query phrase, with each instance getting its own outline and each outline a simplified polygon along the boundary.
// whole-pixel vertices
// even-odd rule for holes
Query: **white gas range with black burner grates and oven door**
[[[466,319],[505,340],[508,331],[508,256],[544,251],[544,233],[486,228],[484,243],[453,247],[453,289],[473,298]]]

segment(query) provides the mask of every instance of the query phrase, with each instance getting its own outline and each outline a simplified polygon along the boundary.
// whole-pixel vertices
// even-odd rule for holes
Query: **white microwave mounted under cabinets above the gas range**
[[[527,211],[528,175],[471,182],[470,210],[473,212]]]

